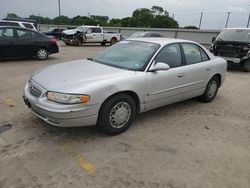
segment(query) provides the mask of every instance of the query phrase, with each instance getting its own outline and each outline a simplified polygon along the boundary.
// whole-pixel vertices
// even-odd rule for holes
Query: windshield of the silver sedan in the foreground
[[[140,41],[121,41],[98,53],[93,60],[105,65],[143,71],[160,45]]]

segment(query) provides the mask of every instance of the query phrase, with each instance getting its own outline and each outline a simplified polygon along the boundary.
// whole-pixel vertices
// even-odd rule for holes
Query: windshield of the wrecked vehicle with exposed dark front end
[[[250,30],[244,29],[225,29],[221,31],[217,40],[222,41],[236,41],[236,42],[249,42]]]

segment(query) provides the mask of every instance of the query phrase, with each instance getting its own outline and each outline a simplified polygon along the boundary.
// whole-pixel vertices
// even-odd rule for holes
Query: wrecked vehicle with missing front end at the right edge
[[[227,28],[212,40],[210,51],[223,57],[229,68],[250,71],[250,28]]]

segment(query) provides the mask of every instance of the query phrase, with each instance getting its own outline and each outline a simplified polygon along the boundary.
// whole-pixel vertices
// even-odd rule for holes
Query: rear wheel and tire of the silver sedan
[[[217,77],[211,78],[208,82],[206,90],[202,96],[200,96],[200,100],[203,102],[211,102],[217,95],[219,89],[219,80]]]

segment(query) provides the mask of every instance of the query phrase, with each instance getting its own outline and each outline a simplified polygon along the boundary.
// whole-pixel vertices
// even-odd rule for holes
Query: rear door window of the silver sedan
[[[202,62],[199,46],[195,44],[182,44],[182,47],[187,65]]]

